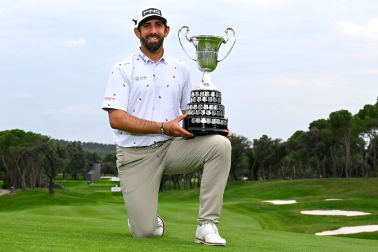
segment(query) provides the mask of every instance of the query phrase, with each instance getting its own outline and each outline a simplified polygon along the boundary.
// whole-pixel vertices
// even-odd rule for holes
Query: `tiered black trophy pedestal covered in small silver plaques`
[[[228,120],[224,118],[222,94],[218,90],[193,90],[190,96],[183,128],[197,136],[227,136]]]

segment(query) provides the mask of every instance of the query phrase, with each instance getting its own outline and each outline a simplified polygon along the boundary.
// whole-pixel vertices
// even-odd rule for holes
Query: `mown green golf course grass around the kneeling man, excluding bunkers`
[[[377,251],[378,232],[344,237],[319,231],[378,224],[378,180],[323,179],[229,182],[218,229],[227,247],[193,242],[199,189],[160,193],[162,238],[132,238],[116,185],[108,179],[58,181],[70,191],[46,189],[0,197],[0,251]],[[345,200],[323,201],[325,198]],[[262,200],[297,200],[274,205]],[[302,210],[366,211],[370,216],[305,216]],[[359,239],[364,238],[364,239]]]

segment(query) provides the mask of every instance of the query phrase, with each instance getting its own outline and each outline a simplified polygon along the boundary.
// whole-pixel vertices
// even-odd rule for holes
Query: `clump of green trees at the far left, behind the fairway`
[[[0,180],[5,187],[25,191],[27,187],[48,187],[54,193],[54,179],[63,172],[63,178],[83,177],[101,158],[94,152],[84,151],[73,142],[59,145],[48,136],[12,129],[0,132]]]

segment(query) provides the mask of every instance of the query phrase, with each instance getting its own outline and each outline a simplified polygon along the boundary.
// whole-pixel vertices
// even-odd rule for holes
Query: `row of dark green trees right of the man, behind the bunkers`
[[[231,180],[377,176],[378,101],[355,115],[330,113],[282,141],[231,137]]]

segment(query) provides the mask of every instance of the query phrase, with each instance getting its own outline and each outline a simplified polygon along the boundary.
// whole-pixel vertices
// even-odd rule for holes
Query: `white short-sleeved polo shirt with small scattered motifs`
[[[139,49],[112,68],[103,109],[121,109],[144,120],[167,122],[187,109],[191,90],[191,76],[185,63],[165,53],[155,63]],[[169,138],[118,129],[114,129],[113,136],[120,147],[148,146]]]

